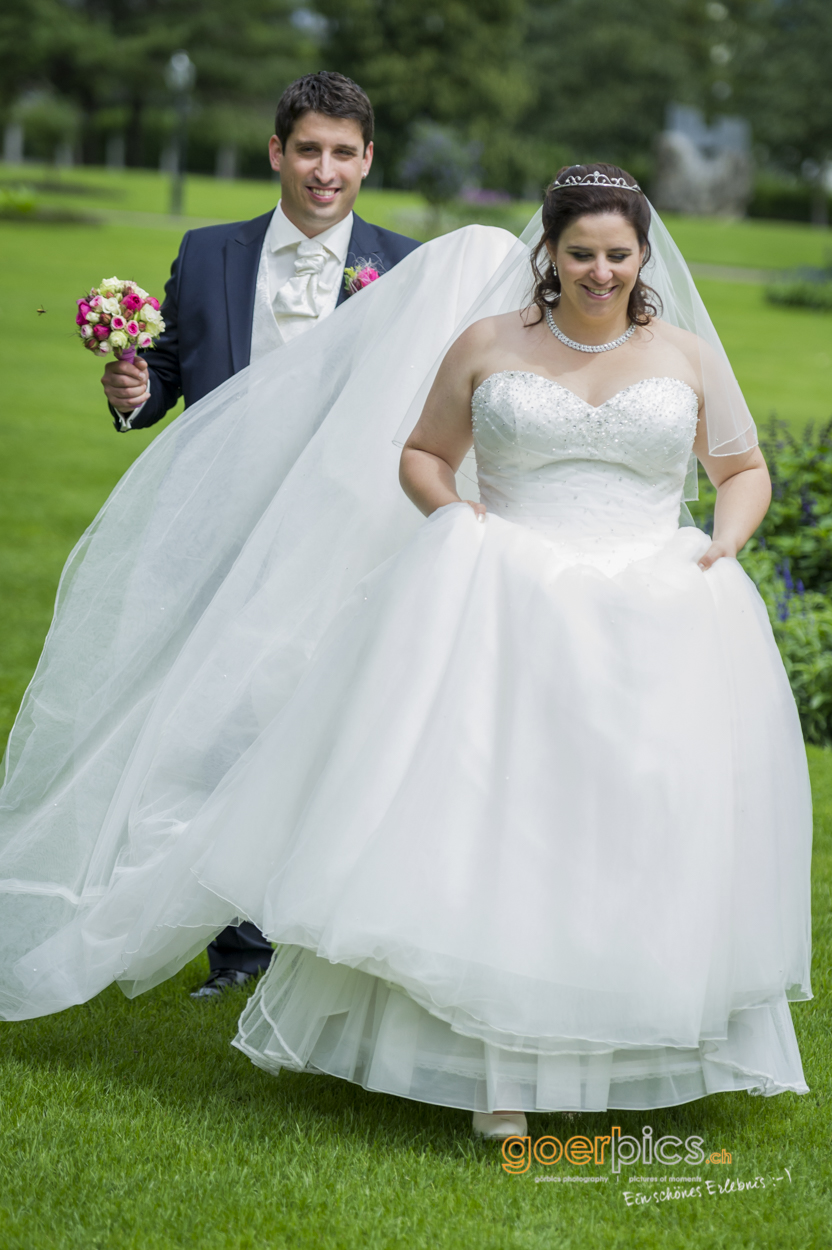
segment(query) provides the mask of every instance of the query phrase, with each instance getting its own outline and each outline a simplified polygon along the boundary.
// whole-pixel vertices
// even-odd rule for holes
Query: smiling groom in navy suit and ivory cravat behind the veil
[[[330,316],[347,298],[345,269],[392,269],[415,239],[352,211],[372,164],[370,100],[341,74],[309,74],[284,91],[271,168],[277,208],[234,225],[189,230],[165,286],[165,331],[154,351],[105,366],[117,430],[161,421],[180,395],[195,404],[267,351]],[[271,945],[246,921],[209,946],[211,975],[194,998],[215,998],[269,965]]]

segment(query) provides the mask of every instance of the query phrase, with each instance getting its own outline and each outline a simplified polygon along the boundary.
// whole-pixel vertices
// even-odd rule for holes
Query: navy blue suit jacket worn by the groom
[[[257,269],[271,216],[189,230],[182,239],[165,286],[165,332],[152,351],[140,352],[151,374],[150,399],[132,429],[161,421],[180,395],[186,406],[195,404],[249,364]],[[346,268],[370,261],[384,274],[415,248],[416,239],[354,215]],[[342,282],[339,304],[345,298]]]

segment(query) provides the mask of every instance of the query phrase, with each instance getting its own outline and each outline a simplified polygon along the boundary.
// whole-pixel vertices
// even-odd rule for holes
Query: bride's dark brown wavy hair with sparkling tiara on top
[[[610,180],[620,180],[623,186],[585,185],[575,186],[567,179],[585,179],[593,174],[603,175]],[[596,212],[617,212],[628,221],[636,231],[638,246],[646,248],[642,265],[650,260],[650,204],[640,190],[628,191],[626,188],[637,188],[632,174],[620,169],[617,165],[565,165],[558,169],[555,180],[546,190],[543,199],[543,234],[532,252],[532,272],[535,275],[535,292],[532,304],[540,309],[540,315],[546,315],[547,308],[555,308],[561,298],[561,280],[555,272],[546,244],[557,244],[563,231],[578,218],[591,216]],[[543,259],[545,269],[541,271],[538,260]],[[627,315],[636,325],[647,325],[650,319],[658,316],[661,300],[652,288],[647,286],[641,278],[636,279],[636,285],[630,292]],[[531,322],[537,325],[538,322]]]

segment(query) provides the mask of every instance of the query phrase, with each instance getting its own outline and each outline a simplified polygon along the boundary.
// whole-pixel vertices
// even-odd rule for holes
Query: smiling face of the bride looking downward
[[[560,306],[583,318],[612,319],[626,312],[645,249],[617,212],[577,218],[547,251],[561,280]]]

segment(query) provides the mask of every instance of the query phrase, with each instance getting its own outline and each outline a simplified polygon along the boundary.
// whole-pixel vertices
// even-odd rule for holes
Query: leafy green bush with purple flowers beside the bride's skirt
[[[772,479],[766,519],[740,561],[763,598],[807,742],[832,744],[832,421],[795,436],[771,421],[761,446]],[[702,479],[691,512],[713,529]]]

